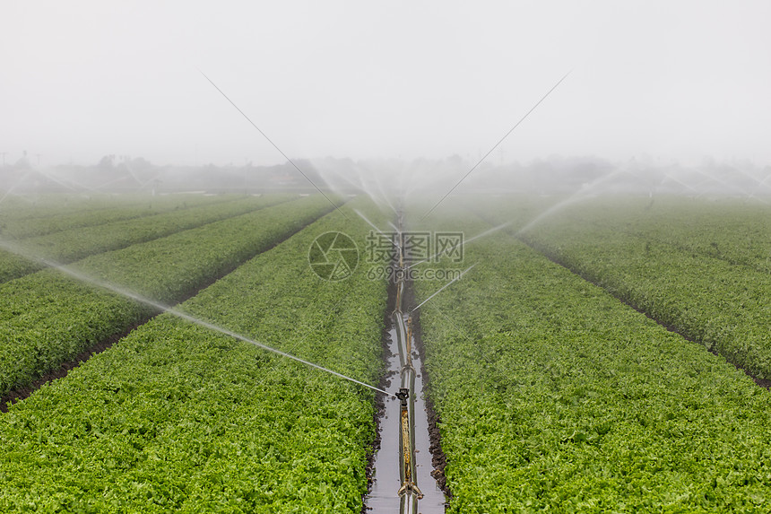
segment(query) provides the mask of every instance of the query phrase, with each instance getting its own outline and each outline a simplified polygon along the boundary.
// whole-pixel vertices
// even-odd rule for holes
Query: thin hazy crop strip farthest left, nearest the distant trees
[[[74,200],[72,205],[39,205],[33,208],[8,209],[0,204],[0,237],[22,239],[91,227],[108,222],[120,222],[189,207],[215,205],[242,198],[221,195],[115,196],[111,203]],[[69,208],[67,208],[69,206]],[[42,214],[42,215],[41,215]]]

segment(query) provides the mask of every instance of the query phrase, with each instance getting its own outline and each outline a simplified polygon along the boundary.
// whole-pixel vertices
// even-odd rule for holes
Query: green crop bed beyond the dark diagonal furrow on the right
[[[720,203],[712,203],[715,213]],[[621,208],[601,203],[579,205],[546,219],[524,234],[524,239],[576,273],[597,283],[619,299],[643,310],[689,339],[705,344],[760,379],[771,378],[771,274],[753,266],[739,266],[724,256],[710,256],[697,248],[712,248],[706,241],[729,247],[741,234],[758,230],[758,221],[726,213],[725,241],[718,229],[698,219],[706,208],[693,204],[689,215],[671,219],[654,232],[654,221],[629,222],[631,213],[645,216],[640,205]],[[651,210],[656,208],[656,205]],[[680,205],[672,212],[683,213]],[[604,213],[605,220],[600,222]],[[591,221],[589,221],[591,220]],[[741,228],[743,222],[747,226]],[[671,235],[664,237],[663,232]],[[766,235],[766,237],[768,237]],[[666,241],[669,239],[669,241]],[[672,239],[680,240],[677,245]],[[662,242],[665,240],[665,242]],[[758,243],[760,244],[760,243]],[[765,243],[763,243],[765,244]],[[690,247],[690,248],[688,248]],[[732,251],[741,252],[741,248]],[[738,255],[738,254],[737,254]]]

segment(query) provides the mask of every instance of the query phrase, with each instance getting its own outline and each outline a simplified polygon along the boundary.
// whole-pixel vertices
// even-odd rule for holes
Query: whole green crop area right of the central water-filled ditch
[[[638,203],[637,214],[644,216],[647,204]],[[757,234],[755,244],[767,248],[769,232],[757,231],[758,209],[729,206],[733,231]],[[511,220],[511,207],[483,214]],[[767,389],[726,362],[735,353],[709,353],[613,297],[634,287],[637,298],[649,301],[640,308],[651,308],[652,316],[722,304],[723,331],[715,332],[760,354],[771,345],[767,306],[756,302],[759,312],[742,319],[741,339],[736,309],[749,307],[751,297],[767,297],[766,277],[679,248],[697,247],[705,233],[705,247],[712,248],[721,232],[719,205],[680,205],[680,223],[664,216],[669,237],[677,239],[673,230],[679,231],[678,247],[641,236],[630,240],[628,231],[652,230],[655,222],[637,219],[630,228],[635,216],[628,204],[619,216],[609,208],[578,205],[524,235],[514,223],[505,236],[474,241],[464,255],[478,263],[473,272],[421,309],[451,511],[768,510]],[[702,218],[707,209],[713,215]],[[454,230],[473,234],[490,227],[474,215],[479,209],[450,212],[444,222]],[[768,219],[771,212],[765,213]],[[605,220],[602,228],[585,222],[591,214]],[[526,222],[525,216],[519,226]],[[728,240],[742,237],[732,232]],[[591,270],[599,286],[523,240],[569,257],[582,272]],[[656,249],[645,252],[645,244]],[[691,263],[700,266],[684,273]],[[737,283],[728,271],[756,276]],[[417,284],[419,298],[431,292],[427,286]],[[688,327],[705,331],[721,313],[697,312]],[[715,345],[719,352],[727,344]]]

